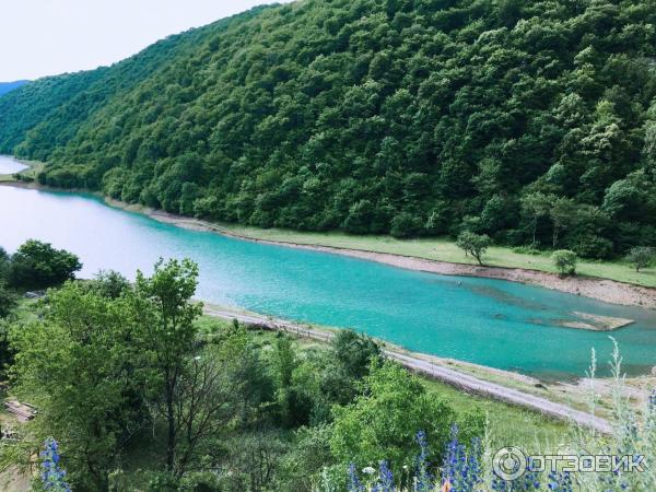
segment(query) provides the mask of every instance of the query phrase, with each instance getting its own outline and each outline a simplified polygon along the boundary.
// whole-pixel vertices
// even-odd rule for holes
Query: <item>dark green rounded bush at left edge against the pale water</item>
[[[72,253],[30,239],[11,257],[9,282],[16,288],[43,289],[73,279],[81,268]]]

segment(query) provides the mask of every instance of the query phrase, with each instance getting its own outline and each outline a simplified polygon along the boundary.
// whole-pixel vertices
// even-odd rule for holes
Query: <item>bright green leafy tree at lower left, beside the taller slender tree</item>
[[[138,360],[124,306],[75,283],[50,291],[45,319],[16,325],[12,367],[19,389],[47,420],[37,435],[56,435],[67,449],[71,481],[104,490],[121,443],[133,432],[130,405]]]

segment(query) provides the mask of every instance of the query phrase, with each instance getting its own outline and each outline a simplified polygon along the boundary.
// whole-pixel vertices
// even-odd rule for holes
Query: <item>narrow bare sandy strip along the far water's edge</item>
[[[48,189],[36,183],[7,181],[0,183],[3,186],[15,186],[31,189]],[[62,191],[57,189],[56,191]],[[77,190],[65,190],[77,191]],[[87,191],[85,191],[87,192]],[[525,268],[505,268],[505,267],[480,267],[476,265],[452,263],[446,261],[430,260],[412,256],[402,256],[390,253],[376,253],[362,249],[347,249],[333,246],[306,245],[291,242],[260,239],[247,235],[236,234],[233,231],[221,227],[211,222],[199,219],[177,215],[161,210],[153,210],[143,206],[132,206],[99,194],[96,196],[103,198],[112,207],[143,213],[156,221],[185,227],[195,231],[209,231],[238,239],[250,241],[254,243],[279,245],[313,251],[329,253],[335,255],[350,256],[393,267],[405,268],[408,270],[437,273],[443,276],[461,277],[481,277],[487,279],[507,280],[529,285],[538,285],[560,292],[574,295],[596,298],[606,303],[619,304],[624,306],[645,307],[656,309],[656,289],[634,285],[630,283],[618,282],[616,280],[598,279],[591,277],[559,277],[558,274],[547,273],[538,270]]]

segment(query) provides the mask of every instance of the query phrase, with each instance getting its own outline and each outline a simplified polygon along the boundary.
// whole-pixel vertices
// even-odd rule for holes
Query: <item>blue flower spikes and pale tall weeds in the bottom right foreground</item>
[[[447,444],[445,458],[438,473],[431,476],[426,471],[425,435],[418,433],[420,454],[417,458],[418,466],[414,468],[411,487],[403,485],[402,480],[395,480],[395,476],[388,472],[385,460],[380,461],[379,471],[372,467],[364,468],[360,476],[358,468],[351,464],[347,470],[347,483],[349,492],[475,492],[481,490],[493,490],[499,492],[531,492],[531,491],[555,491],[555,492],[598,492],[598,491],[651,491],[656,487],[656,476],[648,468],[649,462],[655,459],[656,442],[656,390],[646,398],[642,409],[636,410],[632,402],[634,389],[625,382],[622,374],[622,359],[619,347],[614,340],[614,351],[611,361],[612,372],[612,405],[614,417],[613,429],[606,435],[597,431],[578,426],[565,443],[559,445],[560,456],[578,456],[585,460],[588,457],[616,457],[618,464],[611,467],[599,466],[598,469],[586,469],[581,471],[567,471],[557,467],[544,467],[543,462],[527,459],[524,475],[513,481],[506,481],[497,476],[488,462],[496,450],[490,448],[488,442],[482,443],[472,440],[469,446],[461,444],[458,438],[457,429],[452,433],[452,440]],[[590,408],[591,414],[596,413],[598,395],[596,394],[596,358],[593,350],[593,365],[590,376]],[[629,462],[642,464],[643,471],[632,469],[625,471],[622,458]],[[593,467],[597,468],[597,467]],[[610,470],[609,470],[610,468]],[[616,469],[617,468],[617,469]],[[368,475],[371,478],[365,478]]]

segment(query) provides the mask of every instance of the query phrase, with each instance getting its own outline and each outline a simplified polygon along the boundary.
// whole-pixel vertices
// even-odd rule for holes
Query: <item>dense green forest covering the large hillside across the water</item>
[[[654,0],[301,0],[0,98],[43,184],[258,226],[656,243]]]

